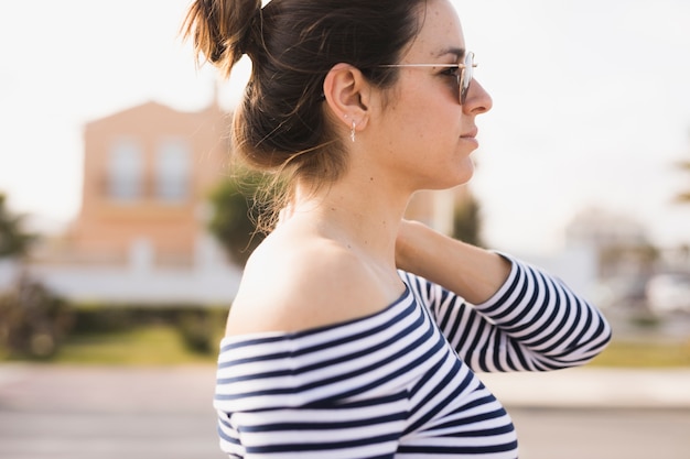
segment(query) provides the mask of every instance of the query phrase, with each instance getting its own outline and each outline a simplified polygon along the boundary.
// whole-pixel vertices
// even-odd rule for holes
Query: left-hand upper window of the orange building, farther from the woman
[[[143,190],[143,155],[139,142],[118,139],[108,157],[108,196],[119,201],[140,199]]]

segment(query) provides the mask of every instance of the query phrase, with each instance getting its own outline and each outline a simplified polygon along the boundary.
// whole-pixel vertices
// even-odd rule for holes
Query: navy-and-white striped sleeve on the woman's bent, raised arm
[[[611,339],[600,312],[561,281],[509,260],[508,278],[479,305],[421,277],[405,273],[405,278],[475,371],[557,370],[596,357]]]

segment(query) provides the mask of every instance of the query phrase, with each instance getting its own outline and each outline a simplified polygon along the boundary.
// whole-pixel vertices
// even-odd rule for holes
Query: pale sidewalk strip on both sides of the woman
[[[548,373],[482,373],[507,407],[690,409],[690,368],[580,368]],[[64,367],[0,364],[0,411],[204,413],[213,365]]]

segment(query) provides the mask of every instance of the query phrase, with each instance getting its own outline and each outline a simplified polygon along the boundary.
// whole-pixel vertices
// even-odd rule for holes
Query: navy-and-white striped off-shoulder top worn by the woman
[[[515,260],[482,305],[400,275],[406,292],[374,315],[222,341],[214,406],[229,457],[513,459],[510,417],[474,371],[579,365],[611,336],[585,300]]]

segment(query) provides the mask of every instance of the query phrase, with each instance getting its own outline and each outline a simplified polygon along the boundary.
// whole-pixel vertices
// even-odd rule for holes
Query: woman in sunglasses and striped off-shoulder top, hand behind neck
[[[580,365],[610,328],[560,281],[402,216],[473,174],[473,78],[449,0],[197,0],[196,51],[252,73],[235,152],[288,184],[222,341],[237,458],[515,458],[475,371]]]

